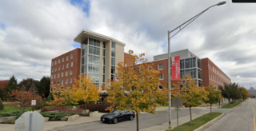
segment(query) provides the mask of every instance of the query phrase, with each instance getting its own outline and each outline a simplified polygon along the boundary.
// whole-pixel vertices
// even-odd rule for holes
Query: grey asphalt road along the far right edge
[[[214,109],[214,112],[225,113],[225,116],[205,131],[256,131],[255,109],[256,100],[251,98],[234,109]]]

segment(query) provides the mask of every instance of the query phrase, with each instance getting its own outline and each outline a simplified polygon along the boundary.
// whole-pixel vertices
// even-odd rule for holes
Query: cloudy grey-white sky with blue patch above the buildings
[[[0,79],[50,76],[52,58],[79,47],[91,30],[125,42],[125,51],[167,53],[173,30],[216,0],[16,0],[0,2]],[[256,87],[256,3],[214,6],[170,40],[170,51],[189,49],[210,58],[232,81]],[[237,76],[237,77],[235,77]]]

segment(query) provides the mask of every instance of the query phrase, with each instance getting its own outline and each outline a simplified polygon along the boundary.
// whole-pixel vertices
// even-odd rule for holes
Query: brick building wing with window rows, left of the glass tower
[[[64,89],[74,84],[74,78],[80,74],[80,56],[81,50],[77,48],[51,60],[50,91],[53,86]]]

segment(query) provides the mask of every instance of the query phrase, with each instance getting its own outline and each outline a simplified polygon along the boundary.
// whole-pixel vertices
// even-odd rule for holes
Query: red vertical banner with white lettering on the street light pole
[[[180,60],[179,56],[172,57],[171,61],[171,80],[179,80],[180,79]]]

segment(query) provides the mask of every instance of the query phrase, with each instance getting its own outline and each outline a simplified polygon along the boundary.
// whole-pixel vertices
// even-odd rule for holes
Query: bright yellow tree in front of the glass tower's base
[[[74,85],[72,85],[72,98],[74,101],[98,101],[100,99],[98,87],[94,85],[94,79],[86,77],[86,75],[79,75],[79,79],[74,78]],[[85,103],[86,109],[86,103]]]

